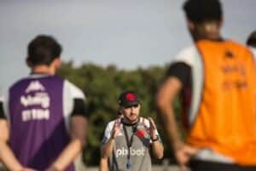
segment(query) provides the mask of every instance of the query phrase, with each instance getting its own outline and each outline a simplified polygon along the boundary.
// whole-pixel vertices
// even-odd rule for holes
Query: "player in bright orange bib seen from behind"
[[[256,68],[253,55],[220,34],[218,0],[183,4],[194,45],[173,60],[157,103],[182,170],[256,170]],[[173,101],[182,96],[186,140],[177,128]]]

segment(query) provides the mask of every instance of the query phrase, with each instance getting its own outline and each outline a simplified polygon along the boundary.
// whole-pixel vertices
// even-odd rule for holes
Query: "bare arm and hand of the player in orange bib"
[[[177,77],[168,77],[159,89],[157,105],[164,121],[167,137],[172,142],[172,149],[177,162],[179,162],[181,169],[185,170],[185,165],[189,162],[189,158],[195,154],[196,149],[183,143],[177,128],[173,102],[181,88],[182,83]]]

